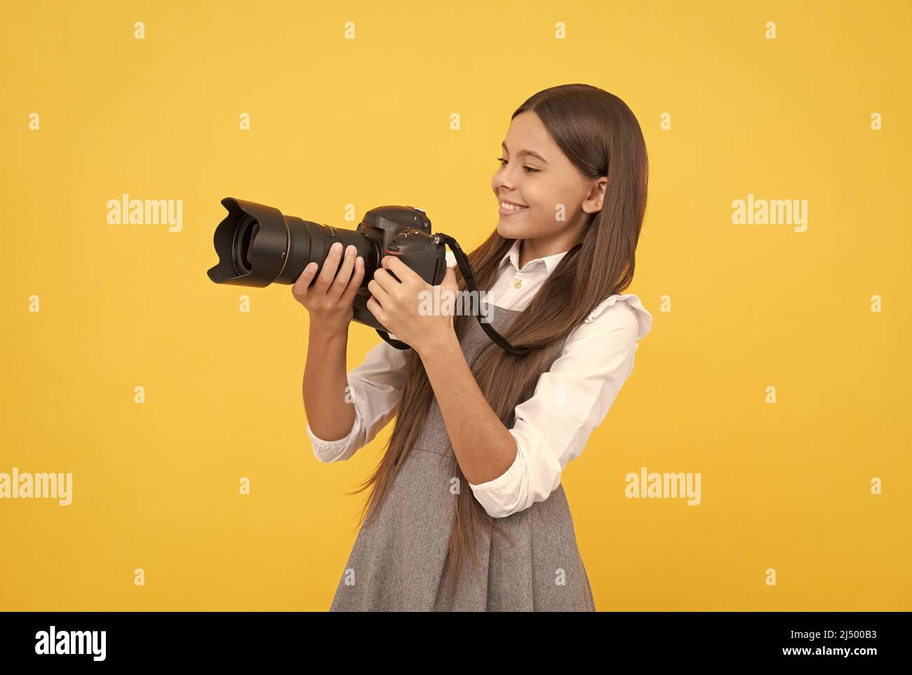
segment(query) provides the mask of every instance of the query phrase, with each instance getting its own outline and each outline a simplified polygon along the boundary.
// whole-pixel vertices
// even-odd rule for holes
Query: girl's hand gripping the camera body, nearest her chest
[[[459,284],[451,267],[435,293],[434,286],[396,256],[384,256],[380,265],[368,282],[372,297],[367,303],[378,322],[418,353],[455,335],[453,316]]]

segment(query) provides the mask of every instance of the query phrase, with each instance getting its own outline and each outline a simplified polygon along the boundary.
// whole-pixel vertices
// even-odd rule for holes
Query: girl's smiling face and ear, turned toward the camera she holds
[[[534,240],[535,257],[568,250],[591,214],[602,208],[606,177],[586,178],[531,110],[510,123],[500,163],[491,180],[500,215],[497,231],[504,239]],[[504,200],[523,208],[504,209]]]

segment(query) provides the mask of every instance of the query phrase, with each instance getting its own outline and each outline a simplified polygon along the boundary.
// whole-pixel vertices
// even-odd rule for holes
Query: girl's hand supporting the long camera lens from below
[[[349,244],[339,267],[342,244],[337,241],[329,247],[323,269],[312,287],[310,281],[316,274],[316,262],[308,264],[295,281],[292,295],[310,314],[311,327],[328,332],[348,332],[348,324],[355,315],[355,295],[364,279],[364,259],[357,251]]]

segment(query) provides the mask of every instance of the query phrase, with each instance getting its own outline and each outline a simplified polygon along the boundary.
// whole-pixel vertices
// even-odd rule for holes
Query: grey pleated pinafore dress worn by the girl
[[[519,312],[494,306],[493,327],[503,332]],[[466,361],[472,363],[488,342],[478,321],[470,322],[460,341]],[[543,372],[555,358],[546,360]],[[457,498],[451,494],[452,453],[434,399],[378,517],[358,532],[330,611],[595,611],[564,486],[512,516],[492,518],[513,543],[476,524],[481,571],[467,553],[459,583],[447,592],[443,582]],[[461,489],[472,487],[463,482]]]

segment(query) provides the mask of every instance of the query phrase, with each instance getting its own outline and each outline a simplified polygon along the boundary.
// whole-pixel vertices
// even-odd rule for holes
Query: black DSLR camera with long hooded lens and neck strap
[[[446,234],[431,234],[430,220],[417,207],[377,207],[364,215],[356,230],[340,230],[285,216],[271,206],[244,199],[226,197],[222,205],[228,215],[215,229],[213,240],[219,262],[207,272],[212,281],[259,288],[273,282],[291,285],[310,262],[316,262],[316,274],[319,274],[329,247],[335,242],[342,243],[343,251],[349,244],[354,245],[357,255],[364,259],[364,277],[355,295],[352,319],[376,329],[380,337],[398,349],[409,349],[409,345],[390,338],[389,331],[367,307],[368,281],[373,279],[385,255],[399,257],[424,281],[437,286],[446,273],[449,244],[466,287],[477,290],[472,265],[459,244]],[[476,316],[482,329],[504,350],[515,354],[528,352],[528,348],[507,343],[489,322],[482,322],[481,316]]]

